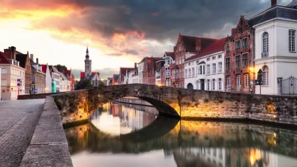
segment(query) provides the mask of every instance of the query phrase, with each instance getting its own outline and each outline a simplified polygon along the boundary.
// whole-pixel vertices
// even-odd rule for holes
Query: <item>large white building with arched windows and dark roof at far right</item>
[[[297,94],[297,79],[292,78],[293,84],[281,81],[297,77],[296,16],[297,0],[293,0],[287,6],[272,4],[249,20],[255,29],[254,72],[263,72],[261,94]],[[260,93],[260,86],[255,93]]]

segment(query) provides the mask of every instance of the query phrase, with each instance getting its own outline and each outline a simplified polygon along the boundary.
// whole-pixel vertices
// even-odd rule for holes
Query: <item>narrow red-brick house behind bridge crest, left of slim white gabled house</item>
[[[162,60],[162,58],[145,57],[141,62],[143,66],[143,84],[156,84],[156,62]]]

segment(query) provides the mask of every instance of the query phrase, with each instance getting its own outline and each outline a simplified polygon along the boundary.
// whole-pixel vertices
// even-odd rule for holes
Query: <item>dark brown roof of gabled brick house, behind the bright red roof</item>
[[[207,47],[210,43],[216,40],[211,38],[201,38],[201,37],[186,36],[186,35],[181,35],[181,38],[184,43],[186,51],[196,51],[197,39],[201,40],[201,49]]]

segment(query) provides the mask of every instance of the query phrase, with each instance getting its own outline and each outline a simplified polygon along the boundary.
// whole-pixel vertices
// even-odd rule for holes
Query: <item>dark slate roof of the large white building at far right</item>
[[[297,3],[296,1],[297,0],[295,0],[295,2],[292,1],[291,3]],[[256,24],[269,21],[275,18],[297,20],[297,10],[289,6],[273,5],[270,8],[250,18],[249,24],[251,26],[254,26]]]

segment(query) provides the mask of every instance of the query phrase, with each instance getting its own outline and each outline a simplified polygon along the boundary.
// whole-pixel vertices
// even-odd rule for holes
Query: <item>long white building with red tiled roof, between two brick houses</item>
[[[216,40],[185,60],[185,88],[224,91],[225,42],[226,38]]]

